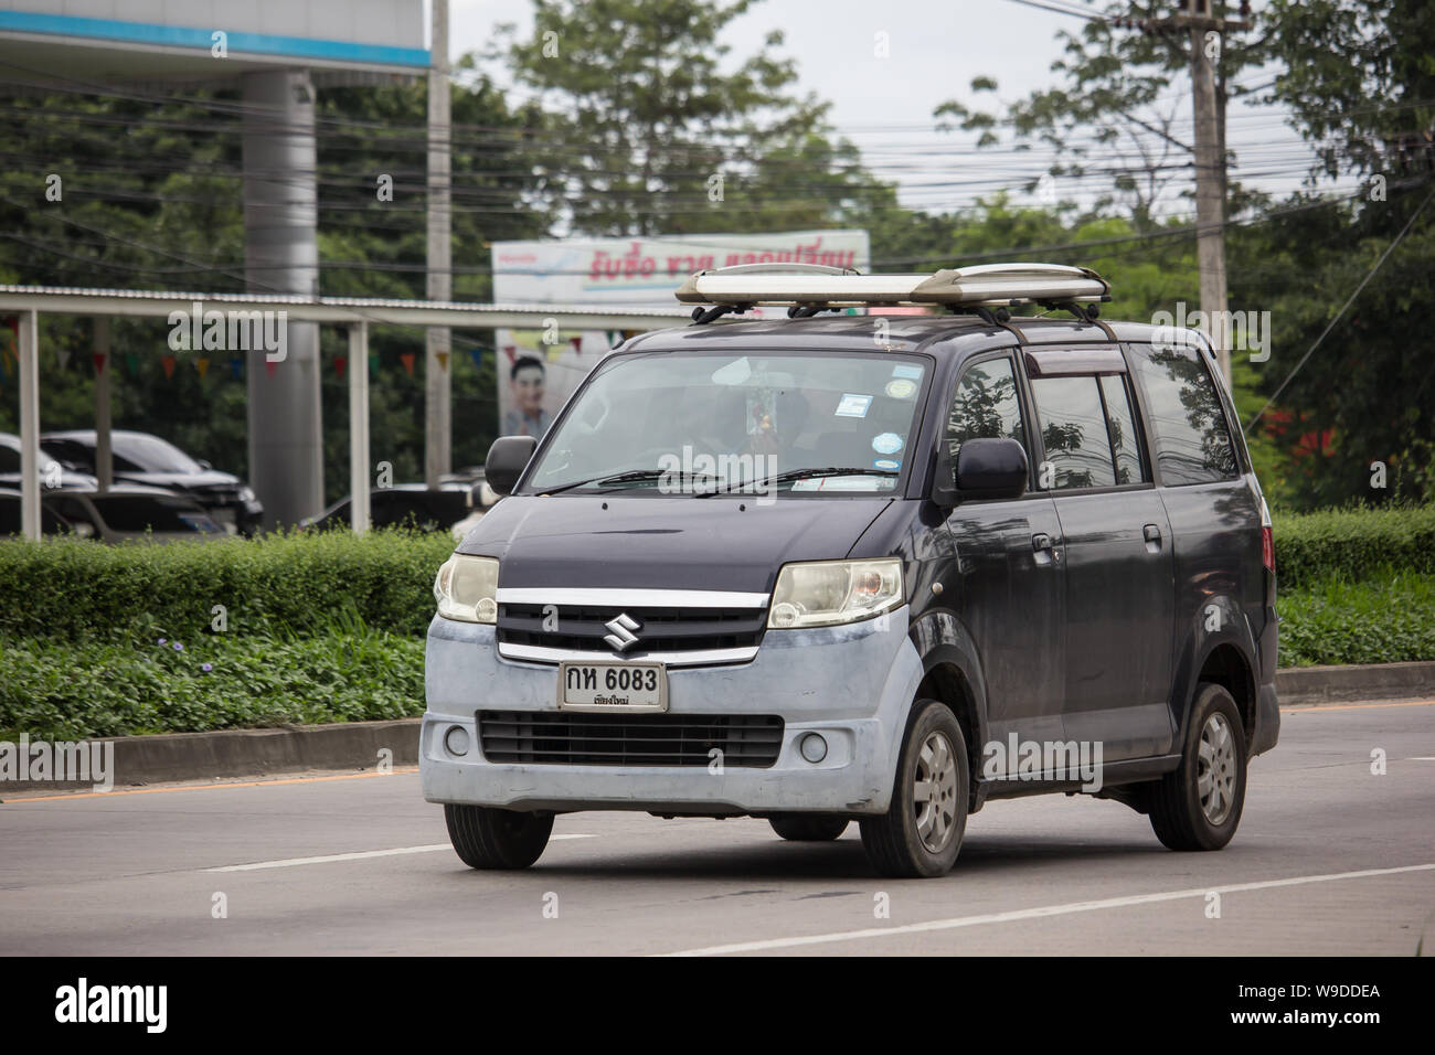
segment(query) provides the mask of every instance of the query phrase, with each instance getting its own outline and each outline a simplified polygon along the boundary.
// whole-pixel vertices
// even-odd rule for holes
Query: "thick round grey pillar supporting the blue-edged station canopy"
[[[243,75],[245,277],[253,293],[319,294],[314,88],[309,70]],[[288,322],[286,355],[244,352],[250,484],[264,525],[296,524],[324,504],[319,326]],[[241,355],[232,352],[232,355]]]

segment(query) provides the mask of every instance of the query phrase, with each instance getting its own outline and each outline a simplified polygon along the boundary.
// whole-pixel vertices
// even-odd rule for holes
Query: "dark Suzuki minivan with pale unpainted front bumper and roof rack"
[[[541,444],[497,441],[511,497],[428,637],[422,784],[459,857],[527,867],[555,814],[641,810],[855,820],[883,874],[940,876],[969,812],[1038,792],[1225,845],[1280,725],[1270,518],[1210,344],[1098,320],[1108,291],[723,268]],[[951,313],[821,314],[890,303]],[[791,317],[716,320],[762,304]]]

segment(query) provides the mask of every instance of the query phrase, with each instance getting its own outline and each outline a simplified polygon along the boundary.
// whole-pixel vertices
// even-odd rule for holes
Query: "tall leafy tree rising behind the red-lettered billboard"
[[[828,106],[792,93],[782,33],[738,63],[723,30],[753,0],[534,0],[489,59],[548,112],[531,161],[574,231],[653,235],[829,227],[894,205]]]

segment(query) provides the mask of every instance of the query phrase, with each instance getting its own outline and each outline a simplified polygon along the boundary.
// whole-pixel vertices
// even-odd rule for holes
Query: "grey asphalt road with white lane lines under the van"
[[[1287,711],[1214,854],[1066,797],[990,804],[938,880],[875,877],[855,825],[554,833],[528,871],[471,871],[412,771],[7,798],[0,955],[1431,953],[1435,702]]]

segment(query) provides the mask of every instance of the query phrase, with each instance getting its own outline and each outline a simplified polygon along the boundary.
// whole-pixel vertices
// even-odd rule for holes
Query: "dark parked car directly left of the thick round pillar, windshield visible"
[[[40,446],[80,472],[95,472],[95,431],[46,432]],[[116,482],[146,484],[185,494],[202,505],[225,531],[253,534],[264,518],[264,505],[253,488],[231,472],[197,461],[166,439],[148,432],[110,432]]]

